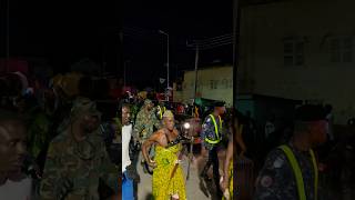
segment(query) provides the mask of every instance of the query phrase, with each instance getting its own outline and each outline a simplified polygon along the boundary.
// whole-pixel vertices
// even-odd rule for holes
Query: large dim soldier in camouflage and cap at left
[[[119,171],[98,129],[100,116],[89,99],[74,101],[68,126],[50,143],[41,199],[98,200],[100,179],[118,193]]]

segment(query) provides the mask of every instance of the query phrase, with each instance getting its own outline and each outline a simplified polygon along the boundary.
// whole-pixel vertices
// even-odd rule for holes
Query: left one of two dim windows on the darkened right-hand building
[[[284,40],[284,66],[304,64],[304,41],[298,39]]]

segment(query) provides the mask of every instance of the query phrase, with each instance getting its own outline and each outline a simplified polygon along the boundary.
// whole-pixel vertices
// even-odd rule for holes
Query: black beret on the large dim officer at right
[[[325,120],[326,112],[322,106],[304,104],[296,109],[295,120],[296,121],[318,121]]]

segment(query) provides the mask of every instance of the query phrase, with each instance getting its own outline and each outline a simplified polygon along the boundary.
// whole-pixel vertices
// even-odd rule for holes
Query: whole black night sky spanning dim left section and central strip
[[[6,0],[1,1],[1,49],[6,57]],[[44,58],[57,71],[82,58],[123,73],[133,84],[155,84],[165,77],[170,34],[171,79],[193,68],[186,40],[232,32],[232,0],[226,1],[20,1],[10,2],[10,57]],[[123,40],[120,42],[120,31]],[[201,66],[231,62],[232,47],[202,52]],[[61,70],[59,70],[61,68]],[[144,76],[141,76],[143,72]],[[123,77],[123,76],[121,76]]]

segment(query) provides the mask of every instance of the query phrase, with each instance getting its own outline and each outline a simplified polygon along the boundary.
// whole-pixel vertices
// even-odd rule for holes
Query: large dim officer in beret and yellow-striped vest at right
[[[296,110],[293,138],[273,150],[256,179],[255,200],[316,200],[318,168],[312,148],[325,142],[326,120],[321,106]]]

